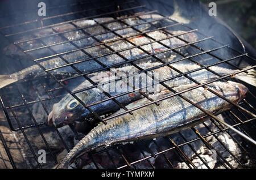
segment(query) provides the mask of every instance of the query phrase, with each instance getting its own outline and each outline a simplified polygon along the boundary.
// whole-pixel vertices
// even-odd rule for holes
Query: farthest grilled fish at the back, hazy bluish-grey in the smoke
[[[120,18],[123,18],[123,16],[121,16]],[[146,20],[146,21],[155,20],[152,22],[152,24],[158,24],[159,22],[157,21],[157,19],[163,18],[163,17],[152,14],[152,15],[141,15],[139,16],[139,18],[142,18],[143,20]],[[136,25],[144,22],[139,18],[136,18],[136,17],[128,18],[128,19],[117,21],[117,22],[111,22],[114,20],[113,18],[94,18],[89,20],[78,19],[72,23],[55,25],[52,28],[40,29],[38,31],[32,32],[31,35],[24,35],[16,41],[31,40],[31,41],[25,41],[18,44],[20,48],[22,48],[23,50],[30,50],[34,48],[39,48],[44,45],[56,44],[54,46],[51,46],[51,49],[54,50],[56,53],[62,53],[68,50],[76,49],[76,47],[72,45],[70,42],[61,43],[62,41],[73,40],[72,42],[75,45],[79,47],[82,47],[82,46],[85,47],[85,46],[93,45],[97,42],[92,37],[86,37],[88,35],[101,33],[100,35],[95,36],[100,41],[117,38],[117,36],[115,36],[114,33],[111,33],[111,32],[104,33],[106,32],[106,29],[101,25],[97,25],[98,23],[105,23],[103,25],[109,29],[117,29],[116,32],[122,36],[130,36],[137,32],[132,28],[123,28],[123,27],[126,27],[126,25],[121,22],[127,23],[129,25],[135,25],[135,27],[139,29],[139,31],[144,31],[151,27],[151,24],[149,23]],[[171,20],[165,20],[165,22],[171,23]],[[89,26],[92,26],[92,27],[89,27]],[[75,30],[76,28],[81,28],[81,29]],[[123,28],[123,29],[118,30],[118,28]],[[62,33],[62,34],[51,36],[54,33]],[[38,39],[33,40],[33,38],[37,38],[37,37],[43,37],[43,38],[40,38],[39,40]],[[14,44],[11,44],[6,48],[4,48],[3,54],[9,55],[12,58],[27,59],[27,55],[24,54],[21,50],[19,50]],[[28,54],[32,55],[33,58],[42,58],[48,55],[52,55],[52,52],[48,48],[43,48],[43,49],[41,48],[41,49],[28,52]]]

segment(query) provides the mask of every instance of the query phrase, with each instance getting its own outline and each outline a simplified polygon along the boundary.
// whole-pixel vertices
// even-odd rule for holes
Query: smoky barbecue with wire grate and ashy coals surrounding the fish
[[[26,2],[26,3],[24,3]],[[52,103],[58,102],[58,100],[63,97],[65,93],[70,93],[74,98],[76,98],[86,109],[94,114],[94,117],[98,119],[98,122],[108,123],[108,120],[125,113],[133,113],[135,109],[127,109],[125,106],[121,105],[116,98],[127,95],[127,93],[120,93],[117,96],[110,96],[105,93],[108,98],[96,102],[94,104],[86,105],[84,104],[76,95],[79,92],[87,91],[97,87],[97,83],[93,82],[88,76],[94,72],[100,72],[105,70],[110,70],[112,67],[121,67],[123,65],[133,65],[139,69],[139,73],[152,70],[143,69],[136,65],[137,61],[144,61],[147,57],[152,57],[155,61],[162,63],[160,66],[153,67],[159,68],[163,66],[168,66],[175,71],[179,72],[179,75],[160,80],[159,83],[164,85],[168,90],[174,92],[174,94],[168,96],[168,98],[173,96],[180,96],[186,101],[193,104],[192,101],[188,100],[182,93],[177,93],[172,88],[164,84],[167,80],[179,78],[185,76],[192,82],[195,82],[196,87],[205,87],[205,85],[212,83],[217,80],[230,80],[234,74],[227,74],[221,76],[217,72],[210,70],[209,67],[212,66],[222,66],[237,69],[235,74],[241,72],[247,72],[248,70],[255,68],[255,56],[254,49],[251,48],[247,43],[242,40],[241,37],[236,35],[230,28],[228,28],[223,22],[216,18],[208,17],[207,11],[199,2],[187,1],[191,6],[183,6],[182,3],[174,2],[162,2],[162,1],[45,1],[46,2],[46,12],[47,16],[38,16],[37,14],[37,3],[24,1],[24,5],[27,5],[27,9],[15,10],[13,6],[9,3],[17,5],[18,1],[13,2],[1,2],[9,7],[10,12],[5,12],[0,15],[1,18],[1,40],[2,47],[9,44],[14,44],[14,46],[21,50],[27,55],[28,59],[11,59],[1,54],[3,57],[1,59],[1,74],[5,72],[6,74],[11,74],[18,70],[22,70],[31,65],[38,65],[46,74],[50,77],[49,79],[32,79],[27,82],[17,82],[0,89],[0,102],[2,106],[2,116],[0,121],[0,126],[6,126],[8,128],[0,128],[0,139],[2,145],[2,150],[0,149],[0,167],[3,168],[52,168],[55,166],[62,154],[68,152],[73,147],[72,143],[67,142],[67,139],[72,139],[71,142],[77,142],[81,140],[85,132],[82,128],[77,128],[76,125],[68,125],[63,127],[64,130],[60,130],[56,127],[49,127],[46,125],[45,117],[51,111]],[[16,3],[16,4],[15,4]],[[23,6],[24,6],[23,5]],[[35,5],[35,6],[34,6]],[[18,7],[18,6],[16,6]],[[179,7],[179,8],[177,8]],[[192,11],[189,10],[192,8]],[[177,10],[182,9],[180,16],[173,16]],[[195,10],[199,10],[195,12]],[[198,16],[200,13],[203,16],[207,16],[212,20],[212,24],[209,25],[204,22],[207,18],[201,18],[200,20],[192,20],[185,16],[185,12],[191,12],[189,16]],[[159,27],[158,24],[154,24],[153,21],[147,22],[146,20],[140,18],[141,15],[158,14],[163,19],[171,20],[170,24],[166,24]],[[184,15],[184,16],[183,16]],[[203,17],[202,16],[202,17]],[[148,44],[159,43],[163,45],[166,50],[165,52],[173,52],[176,54],[175,62],[188,61],[191,63],[196,63],[200,68],[193,71],[181,72],[172,66],[175,62],[164,62],[163,59],[158,57],[161,52],[147,52],[143,49],[143,45],[136,45],[129,40],[130,37],[123,37],[117,32],[117,29],[109,29],[106,23],[97,23],[96,25],[103,27],[105,32],[97,34],[86,33],[86,28],[90,28],[96,25],[89,25],[87,27],[78,27],[74,22],[81,19],[93,19],[93,18],[103,18],[111,17],[113,20],[110,22],[119,22],[123,24],[120,29],[125,29],[127,27],[132,28],[136,32],[136,36],[146,36],[152,41]],[[128,18],[139,18],[142,23],[129,25],[122,20]],[[188,19],[191,22],[180,22],[182,18]],[[146,31],[140,31],[137,26],[141,24],[150,24],[154,29],[150,30],[152,32],[161,30],[164,33],[170,35],[169,38],[176,37],[183,41],[184,44],[170,48],[164,45],[162,40],[155,40],[151,36],[148,36]],[[97,42],[96,45],[103,45],[105,48],[110,50],[110,53],[94,56],[86,52],[86,49],[92,48],[92,46],[82,47],[77,46],[74,41],[76,39],[68,40],[63,36],[64,32],[57,32],[53,29],[56,25],[60,24],[72,24],[75,25],[75,29],[69,31],[81,30],[85,33],[84,38],[93,38]],[[208,28],[210,27],[211,30]],[[29,39],[20,40],[21,36],[31,35],[40,29],[51,28],[54,33],[48,36],[42,37],[32,37]],[[120,30],[119,29],[119,30]],[[213,31],[214,29],[214,31]],[[181,34],[174,35],[168,30],[183,30],[185,33],[196,33],[198,39],[193,42],[188,42],[184,38],[181,38]],[[222,33],[222,32],[225,33]],[[97,37],[104,33],[113,33],[117,39],[113,40],[125,40],[131,45],[130,48],[125,50],[130,50],[133,48],[138,48],[142,50],[146,55],[127,59],[120,52],[121,50],[114,50],[110,48],[108,43],[102,42]],[[55,44],[46,44],[42,41],[43,38],[49,38],[51,36],[59,35],[62,39],[60,42]],[[225,38],[223,38],[223,36]],[[31,47],[31,49],[24,50],[20,48],[20,44],[28,41],[37,40],[42,42],[40,47]],[[71,43],[76,47],[75,50],[69,50],[67,52],[57,53],[52,47],[55,45],[61,45],[64,43]],[[186,53],[183,49],[186,48]],[[32,57],[30,52],[36,52],[41,49],[49,49],[52,55],[47,55],[46,57]],[[181,49],[181,50],[180,50]],[[85,53],[88,58],[81,59],[76,62],[69,62],[63,57],[64,54],[75,52],[81,50]],[[106,55],[116,54],[121,57],[124,61],[119,63],[114,63],[113,65],[105,65],[98,59],[105,57]],[[40,62],[47,60],[52,57],[61,58],[66,64],[61,66],[56,66],[52,68],[44,68]],[[94,61],[98,63],[101,67],[91,70],[89,72],[82,72],[79,70],[79,63],[86,61]],[[145,60],[146,61],[146,60]],[[77,75],[70,76],[68,78],[59,79],[51,72],[63,67],[71,67],[77,72]],[[216,74],[219,78],[211,80],[205,83],[199,83],[195,79],[188,76],[188,74],[199,71],[208,70],[213,74]],[[72,91],[68,85],[75,83],[78,80],[89,80],[93,85],[91,87],[86,87],[80,89],[79,91]],[[118,79],[115,79],[118,80]],[[238,81],[232,79],[234,81]],[[241,82],[240,82],[241,83]],[[85,156],[82,156],[79,160],[75,162],[73,168],[252,168],[255,167],[255,145],[249,140],[242,138],[240,135],[235,133],[230,128],[236,128],[238,131],[242,132],[244,135],[251,139],[256,139],[255,134],[255,87],[250,85],[246,86],[249,88],[249,93],[246,98],[241,101],[240,104],[236,105],[233,103],[233,108],[221,113],[217,117],[213,114],[206,112],[210,116],[208,121],[201,123],[199,126],[189,128],[176,134],[166,136],[158,139],[151,140],[139,140],[133,142],[132,144],[117,144],[112,145],[106,149],[99,149],[98,151],[93,151]],[[183,92],[191,91],[187,89]],[[208,91],[213,92],[208,89]],[[148,98],[151,102],[136,109],[144,108],[150,104],[158,104],[158,100],[152,100],[151,98],[143,93],[143,96]],[[220,96],[220,95],[218,95]],[[220,96],[222,97],[222,96]],[[222,97],[225,99],[225,97]],[[114,115],[114,117],[109,117],[108,115],[101,116],[93,112],[90,108],[93,105],[100,104],[107,100],[115,101],[121,109],[125,111],[121,114]],[[160,103],[160,102],[159,102]],[[231,102],[230,102],[231,103]],[[4,115],[3,115],[4,114]],[[221,122],[225,121],[231,127],[223,125]],[[88,121],[90,122],[90,121]],[[84,122],[87,123],[87,122]],[[79,123],[82,126],[82,122]],[[82,130],[81,130],[82,129]],[[84,132],[84,133],[82,133]],[[54,136],[52,138],[52,136]],[[13,137],[13,138],[10,138]],[[40,144],[40,145],[38,145]],[[233,145],[233,146],[232,146]],[[0,146],[1,147],[1,146]],[[61,150],[58,149],[61,147]],[[46,151],[46,163],[40,162],[38,153],[39,149],[44,149]],[[239,149],[239,150],[238,150]],[[4,150],[4,151],[3,151]],[[202,153],[203,152],[203,153]],[[239,152],[239,153],[237,153]],[[216,155],[216,163],[210,165],[209,158],[211,156],[206,156],[207,154]]]

